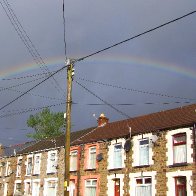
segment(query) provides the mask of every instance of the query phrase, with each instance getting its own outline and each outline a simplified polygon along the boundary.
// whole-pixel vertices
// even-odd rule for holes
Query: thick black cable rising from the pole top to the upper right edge
[[[104,52],[104,51],[106,51],[106,50],[109,50],[109,49],[111,49],[111,48],[113,48],[113,47],[116,47],[116,46],[118,46],[118,45],[124,44],[125,42],[128,42],[128,41],[130,41],[130,40],[132,40],[132,39],[138,38],[138,37],[140,37],[140,36],[142,36],[142,35],[145,35],[145,34],[147,34],[147,33],[150,33],[150,32],[152,32],[152,31],[155,31],[155,30],[157,30],[157,29],[159,29],[159,28],[162,28],[162,27],[164,27],[164,26],[166,26],[166,25],[169,25],[169,24],[171,24],[171,23],[174,23],[174,22],[176,22],[176,21],[178,21],[178,20],[181,20],[181,19],[183,19],[183,18],[185,18],[185,17],[187,17],[187,16],[189,16],[189,15],[194,14],[195,12],[196,12],[196,11],[189,12],[188,14],[185,14],[185,15],[183,15],[183,16],[181,16],[181,17],[178,17],[178,18],[176,18],[176,19],[173,19],[173,20],[170,20],[170,21],[168,21],[168,22],[166,22],[166,23],[163,23],[163,24],[161,24],[161,25],[159,25],[159,26],[156,26],[156,27],[154,27],[154,28],[151,28],[151,29],[149,29],[149,30],[146,30],[146,31],[144,31],[143,33],[137,34],[137,35],[135,35],[135,36],[133,36],[133,37],[130,37],[130,38],[125,39],[125,40],[123,40],[123,41],[117,42],[117,43],[115,43],[115,44],[113,44],[113,45],[111,45],[111,46],[108,46],[108,47],[104,48],[104,49],[98,50],[98,51],[93,52],[93,53],[91,53],[91,54],[89,54],[89,55],[86,55],[86,56],[84,56],[84,57],[81,57],[81,58],[79,58],[79,59],[76,59],[75,62],[82,61],[82,60],[84,60],[84,59],[86,59],[86,58],[89,58],[89,57],[91,57],[91,56],[94,56],[94,55],[96,55],[96,54],[99,54],[99,53],[101,53],[101,52]]]

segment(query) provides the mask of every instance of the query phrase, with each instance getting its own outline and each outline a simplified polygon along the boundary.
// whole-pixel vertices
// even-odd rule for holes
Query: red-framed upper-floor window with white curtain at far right
[[[173,136],[173,162],[186,163],[187,150],[186,150],[186,134],[177,134]]]

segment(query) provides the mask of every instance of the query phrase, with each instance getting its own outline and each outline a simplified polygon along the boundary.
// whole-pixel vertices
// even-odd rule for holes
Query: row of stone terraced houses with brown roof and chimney
[[[70,196],[196,195],[196,104],[71,133]],[[64,193],[64,136],[0,148],[0,195]]]

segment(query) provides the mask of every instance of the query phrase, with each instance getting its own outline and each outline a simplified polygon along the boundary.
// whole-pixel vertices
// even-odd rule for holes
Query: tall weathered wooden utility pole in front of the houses
[[[65,130],[65,180],[64,180],[64,196],[69,196],[72,77],[73,77],[73,63],[68,59],[68,61],[67,61],[67,102],[66,102],[66,130]]]

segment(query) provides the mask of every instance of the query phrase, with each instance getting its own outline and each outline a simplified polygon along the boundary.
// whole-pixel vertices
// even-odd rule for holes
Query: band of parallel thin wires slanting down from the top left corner
[[[3,2],[4,2],[4,5],[3,5]],[[14,27],[15,31],[17,32],[18,36],[20,37],[20,39],[22,40],[22,42],[26,46],[29,54],[33,57],[33,60],[36,62],[37,65],[39,65],[39,67],[41,69],[44,69],[45,71],[48,72],[48,74],[51,74],[48,67],[46,66],[45,62],[43,61],[43,58],[41,57],[40,53],[36,49],[35,45],[33,44],[30,37],[28,36],[27,32],[24,30],[22,24],[20,23],[18,17],[14,13],[14,10],[12,9],[11,5],[8,3],[7,0],[3,0],[3,2],[0,1],[0,4],[1,4],[3,10],[5,11],[8,19],[10,20],[12,26]],[[40,66],[40,64],[41,64],[41,66]],[[45,67],[43,65],[45,65]],[[56,79],[53,78],[53,80],[56,83],[56,85],[59,87],[59,89],[62,90],[61,86],[56,81]],[[59,89],[56,86],[55,86],[55,88],[59,91]]]

